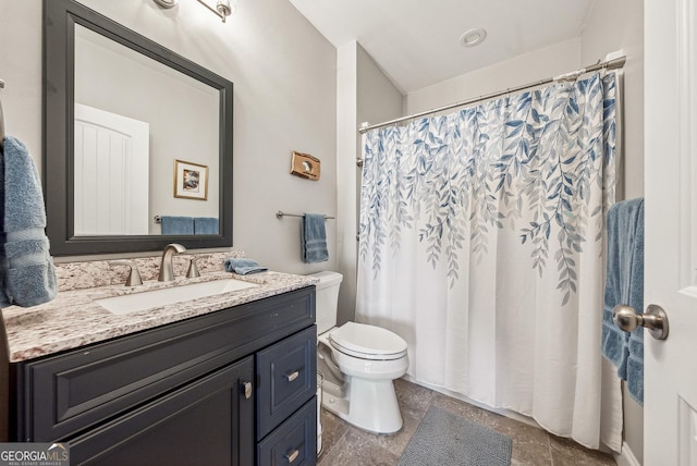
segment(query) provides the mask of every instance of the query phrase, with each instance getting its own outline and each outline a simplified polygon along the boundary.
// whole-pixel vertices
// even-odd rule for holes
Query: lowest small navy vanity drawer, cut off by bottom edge
[[[315,396],[257,445],[257,466],[317,463],[317,400]]]

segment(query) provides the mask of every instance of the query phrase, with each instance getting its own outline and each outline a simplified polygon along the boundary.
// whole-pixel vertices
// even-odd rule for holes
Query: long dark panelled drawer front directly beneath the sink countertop
[[[19,363],[16,441],[64,439],[233,363],[315,329],[306,287],[76,351]]]

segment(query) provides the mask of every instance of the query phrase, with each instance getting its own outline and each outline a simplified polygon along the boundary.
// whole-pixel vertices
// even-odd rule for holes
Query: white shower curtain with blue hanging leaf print
[[[413,380],[590,447],[602,422],[621,443],[600,355],[615,83],[596,73],[364,139],[356,319],[406,340]]]

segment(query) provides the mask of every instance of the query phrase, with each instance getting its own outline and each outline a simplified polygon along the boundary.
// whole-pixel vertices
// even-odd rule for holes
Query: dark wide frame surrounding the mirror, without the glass
[[[73,206],[75,24],[205,83],[220,93],[218,235],[75,236]],[[44,193],[53,256],[232,246],[232,82],[72,0],[44,0]]]

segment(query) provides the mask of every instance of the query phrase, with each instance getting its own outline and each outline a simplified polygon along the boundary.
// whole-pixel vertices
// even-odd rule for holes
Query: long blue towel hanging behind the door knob
[[[602,311],[601,350],[629,394],[644,397],[644,329],[632,334],[617,329],[612,310],[619,304],[644,310],[644,199],[617,203],[608,210],[608,257]]]

